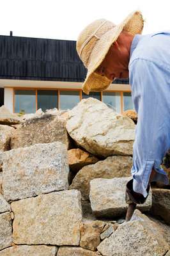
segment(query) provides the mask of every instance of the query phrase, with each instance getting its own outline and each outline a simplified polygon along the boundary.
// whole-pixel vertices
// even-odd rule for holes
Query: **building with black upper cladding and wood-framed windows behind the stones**
[[[37,109],[71,109],[81,99],[95,97],[121,113],[132,109],[128,79],[114,81],[105,92],[86,95],[75,41],[0,36],[0,104],[12,113]]]

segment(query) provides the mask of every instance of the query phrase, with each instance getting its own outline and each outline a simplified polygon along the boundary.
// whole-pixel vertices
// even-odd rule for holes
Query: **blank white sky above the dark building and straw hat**
[[[140,10],[143,34],[170,29],[169,0],[0,0],[0,35],[77,40],[96,19],[119,24]]]

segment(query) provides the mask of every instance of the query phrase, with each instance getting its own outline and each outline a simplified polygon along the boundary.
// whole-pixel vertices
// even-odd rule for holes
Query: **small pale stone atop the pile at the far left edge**
[[[16,114],[10,113],[10,111],[5,108],[4,106],[1,106],[0,108],[0,124],[3,125],[13,125],[13,124],[19,124],[20,118]]]

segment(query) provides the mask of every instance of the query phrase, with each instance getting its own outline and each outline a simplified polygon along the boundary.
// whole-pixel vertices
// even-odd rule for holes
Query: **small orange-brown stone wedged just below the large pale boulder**
[[[95,164],[97,162],[97,157],[80,148],[72,148],[68,150],[68,164],[72,172],[77,173],[82,167],[88,164]]]

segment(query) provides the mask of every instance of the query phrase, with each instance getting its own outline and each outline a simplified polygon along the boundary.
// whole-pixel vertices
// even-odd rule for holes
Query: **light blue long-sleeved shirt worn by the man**
[[[152,181],[169,183],[160,164],[170,148],[170,31],[135,35],[128,68],[138,114],[131,173],[134,191],[146,197],[152,168]]]

